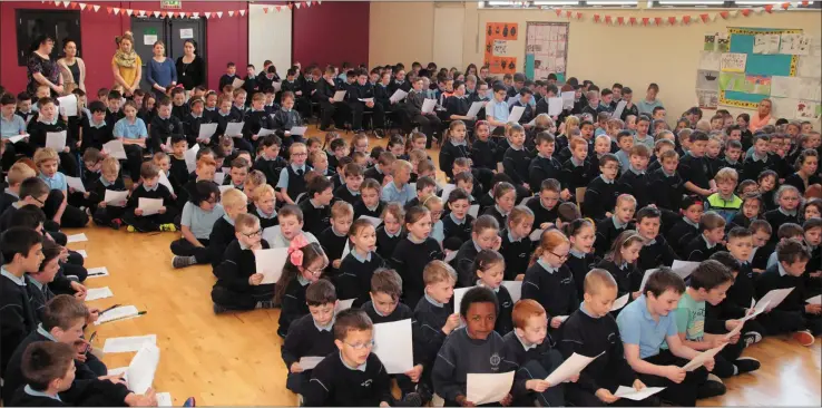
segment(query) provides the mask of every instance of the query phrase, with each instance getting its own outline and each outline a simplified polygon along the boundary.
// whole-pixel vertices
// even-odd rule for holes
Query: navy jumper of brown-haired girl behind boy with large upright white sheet
[[[440,243],[430,236],[422,242],[417,242],[413,236],[408,235],[397,244],[391,255],[391,263],[402,278],[403,303],[417,307],[425,288],[422,271],[429,262],[443,259],[444,254]]]

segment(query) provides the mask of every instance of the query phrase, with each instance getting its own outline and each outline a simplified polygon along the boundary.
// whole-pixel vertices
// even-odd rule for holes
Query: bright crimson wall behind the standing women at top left
[[[82,43],[80,57],[86,61],[86,89],[92,94],[102,87],[114,85],[111,74],[111,57],[115,51],[114,39],[130,29],[131,18],[125,14],[112,16],[106,12],[106,7],[136,10],[159,10],[159,1],[95,1],[102,6],[97,12],[82,11],[80,14],[80,30]],[[17,9],[57,9],[51,3],[29,1],[0,1],[0,84],[7,89],[19,93],[26,88],[26,67],[17,66]],[[212,17],[206,23],[207,42],[207,72],[208,87],[216,88],[219,77],[224,74],[225,62],[234,61],[244,67],[248,59],[248,19],[247,17],[228,17],[228,10],[246,10],[245,1],[184,1],[186,12],[224,11],[223,18]],[[88,10],[88,9],[87,9]],[[368,20],[365,22],[368,29]],[[368,56],[368,45],[365,46]]]

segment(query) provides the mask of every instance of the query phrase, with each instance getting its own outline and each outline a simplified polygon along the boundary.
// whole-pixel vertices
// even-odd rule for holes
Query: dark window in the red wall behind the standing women
[[[82,40],[80,38],[80,12],[76,10],[27,10],[19,9],[17,19],[17,65],[26,66],[35,41],[40,36],[51,36],[55,48],[51,58],[58,59],[62,54],[62,40],[71,38],[77,43],[77,56],[80,56]]]

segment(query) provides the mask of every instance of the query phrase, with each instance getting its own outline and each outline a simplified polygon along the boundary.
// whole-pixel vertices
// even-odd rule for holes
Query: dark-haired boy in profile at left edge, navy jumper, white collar
[[[16,226],[0,236],[3,265],[0,269],[0,370],[11,360],[18,344],[36,329],[37,318],[29,302],[26,273],[37,273],[42,260],[42,235],[37,231]],[[3,392],[4,394],[4,392]]]

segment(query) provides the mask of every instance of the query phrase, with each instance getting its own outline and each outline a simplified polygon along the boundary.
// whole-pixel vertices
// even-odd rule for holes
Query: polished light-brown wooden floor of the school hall
[[[310,135],[323,136],[313,126]],[[370,140],[373,147],[386,139]],[[428,153],[436,162],[437,150]],[[169,244],[178,233],[136,234],[94,225],[66,232],[85,233],[87,242],[69,247],[86,250],[86,266],[107,266],[110,274],[85,282],[114,292],[114,298],[89,305],[134,304],[147,311],[88,328],[87,337],[98,332],[95,348],[101,350],[108,338],[157,334],[162,352],[154,388],[170,392],[175,406],[192,396],[200,406],[296,405],[296,396],[285,389],[282,339],[276,334],[280,310],[215,315],[211,266],[172,268]],[[134,354],[106,354],[104,361],[109,369],[125,367]],[[699,406],[822,406],[822,339],[804,348],[786,337],[767,338],[743,356],[759,359],[762,369],[725,380],[727,394]]]

